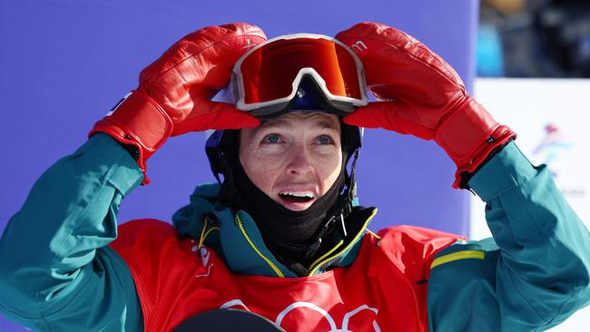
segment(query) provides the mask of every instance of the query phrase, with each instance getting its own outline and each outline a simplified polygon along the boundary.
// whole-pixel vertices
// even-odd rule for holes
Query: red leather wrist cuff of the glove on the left
[[[146,161],[172,134],[172,119],[149,95],[139,90],[129,94],[110,114],[94,124],[95,132],[105,132],[118,142],[139,151],[137,164],[143,171],[143,184],[150,182]]]

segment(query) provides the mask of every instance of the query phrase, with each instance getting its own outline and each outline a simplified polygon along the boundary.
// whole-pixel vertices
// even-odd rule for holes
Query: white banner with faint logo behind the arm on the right
[[[545,163],[557,187],[590,227],[590,80],[477,79],[476,99],[518,133],[516,144],[534,164]],[[470,204],[470,239],[491,236],[484,203]],[[552,331],[583,331],[590,308]]]

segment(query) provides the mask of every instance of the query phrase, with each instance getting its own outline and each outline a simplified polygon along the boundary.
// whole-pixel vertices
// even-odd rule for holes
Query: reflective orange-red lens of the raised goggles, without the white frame
[[[331,93],[335,99],[366,99],[361,65],[346,46],[330,39],[297,37],[270,41],[246,54],[234,73],[242,88],[240,98],[249,105],[289,97],[297,88],[293,83],[302,70],[317,73],[325,83],[320,86],[324,93]]]

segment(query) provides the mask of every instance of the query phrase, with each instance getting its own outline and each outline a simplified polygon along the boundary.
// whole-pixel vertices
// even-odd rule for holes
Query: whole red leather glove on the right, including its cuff
[[[516,137],[466,93],[448,63],[412,36],[365,22],[336,38],[359,55],[369,90],[383,101],[359,108],[344,122],[434,139],[457,164],[454,188],[465,188],[462,177]]]

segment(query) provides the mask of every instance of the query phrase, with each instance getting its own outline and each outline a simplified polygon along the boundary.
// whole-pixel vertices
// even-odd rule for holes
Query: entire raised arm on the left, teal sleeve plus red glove
[[[143,70],[88,142],[44,172],[0,240],[5,316],[40,330],[143,330],[133,278],[107,246],[119,204],[147,183],[146,161],[169,136],[258,125],[210,98],[247,46],[264,38],[250,24],[188,34]]]

